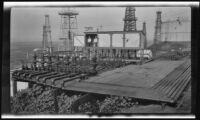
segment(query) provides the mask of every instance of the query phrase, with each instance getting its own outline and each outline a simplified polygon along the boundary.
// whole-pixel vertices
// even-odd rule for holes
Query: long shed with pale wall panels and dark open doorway
[[[85,32],[85,47],[143,49],[144,42],[145,42],[145,34],[143,31]]]

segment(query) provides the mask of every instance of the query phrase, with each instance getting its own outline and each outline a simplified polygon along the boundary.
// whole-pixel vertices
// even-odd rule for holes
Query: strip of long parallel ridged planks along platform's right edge
[[[190,80],[191,62],[186,61],[164,79],[156,83],[152,89],[170,98],[171,102],[175,102],[189,84]]]

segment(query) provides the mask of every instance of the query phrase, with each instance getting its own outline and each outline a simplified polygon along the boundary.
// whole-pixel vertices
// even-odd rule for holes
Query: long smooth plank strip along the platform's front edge
[[[71,82],[63,89],[106,94],[106,95],[109,94],[118,96],[129,96],[138,99],[149,99],[149,100],[163,101],[163,102],[171,101],[171,99],[148,88],[111,86],[101,83],[90,83],[90,82],[79,82],[79,83]]]

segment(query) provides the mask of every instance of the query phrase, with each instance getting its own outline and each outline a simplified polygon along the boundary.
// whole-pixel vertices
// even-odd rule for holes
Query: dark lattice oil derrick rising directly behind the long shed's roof
[[[126,7],[124,31],[136,31],[135,7]]]

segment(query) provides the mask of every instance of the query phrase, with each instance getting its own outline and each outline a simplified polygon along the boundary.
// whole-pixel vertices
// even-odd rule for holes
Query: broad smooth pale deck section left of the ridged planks
[[[151,87],[184,61],[152,61],[104,72],[85,81],[131,87]]]

